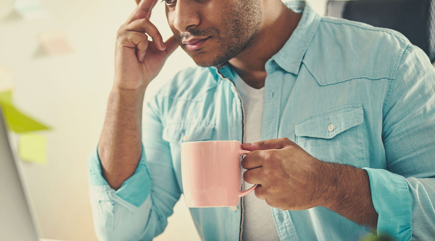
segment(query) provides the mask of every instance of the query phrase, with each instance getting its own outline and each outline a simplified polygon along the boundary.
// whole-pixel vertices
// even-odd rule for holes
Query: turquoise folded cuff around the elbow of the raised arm
[[[101,172],[98,144],[90,154],[87,162],[89,184],[95,186],[109,185]],[[151,175],[145,160],[145,148],[142,143],[141,160],[134,174],[126,179],[121,187],[110,192],[112,198],[129,209],[139,207],[151,192]],[[134,207],[133,207],[133,206]]]

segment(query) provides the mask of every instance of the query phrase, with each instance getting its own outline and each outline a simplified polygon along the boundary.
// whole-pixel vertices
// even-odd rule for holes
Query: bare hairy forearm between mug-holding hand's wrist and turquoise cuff
[[[355,223],[376,231],[378,213],[373,206],[368,174],[364,169],[324,162],[329,180],[322,206]]]

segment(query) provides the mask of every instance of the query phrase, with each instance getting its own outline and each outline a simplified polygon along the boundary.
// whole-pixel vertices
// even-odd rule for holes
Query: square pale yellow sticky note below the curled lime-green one
[[[38,134],[21,134],[18,141],[21,160],[47,164],[47,137]]]

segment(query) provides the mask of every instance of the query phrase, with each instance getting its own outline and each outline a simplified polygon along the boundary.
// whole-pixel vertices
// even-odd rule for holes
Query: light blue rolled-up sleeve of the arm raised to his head
[[[152,240],[164,231],[180,198],[159,110],[157,96],[144,104],[141,157],[119,189],[102,176],[97,146],[90,153],[89,198],[99,240]]]

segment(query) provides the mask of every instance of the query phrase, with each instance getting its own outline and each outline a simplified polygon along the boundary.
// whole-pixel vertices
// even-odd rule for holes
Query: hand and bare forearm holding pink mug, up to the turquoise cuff
[[[242,145],[243,179],[259,184],[255,195],[274,208],[329,208],[376,230],[378,213],[364,169],[318,160],[287,137]],[[333,160],[332,160],[333,161]]]

